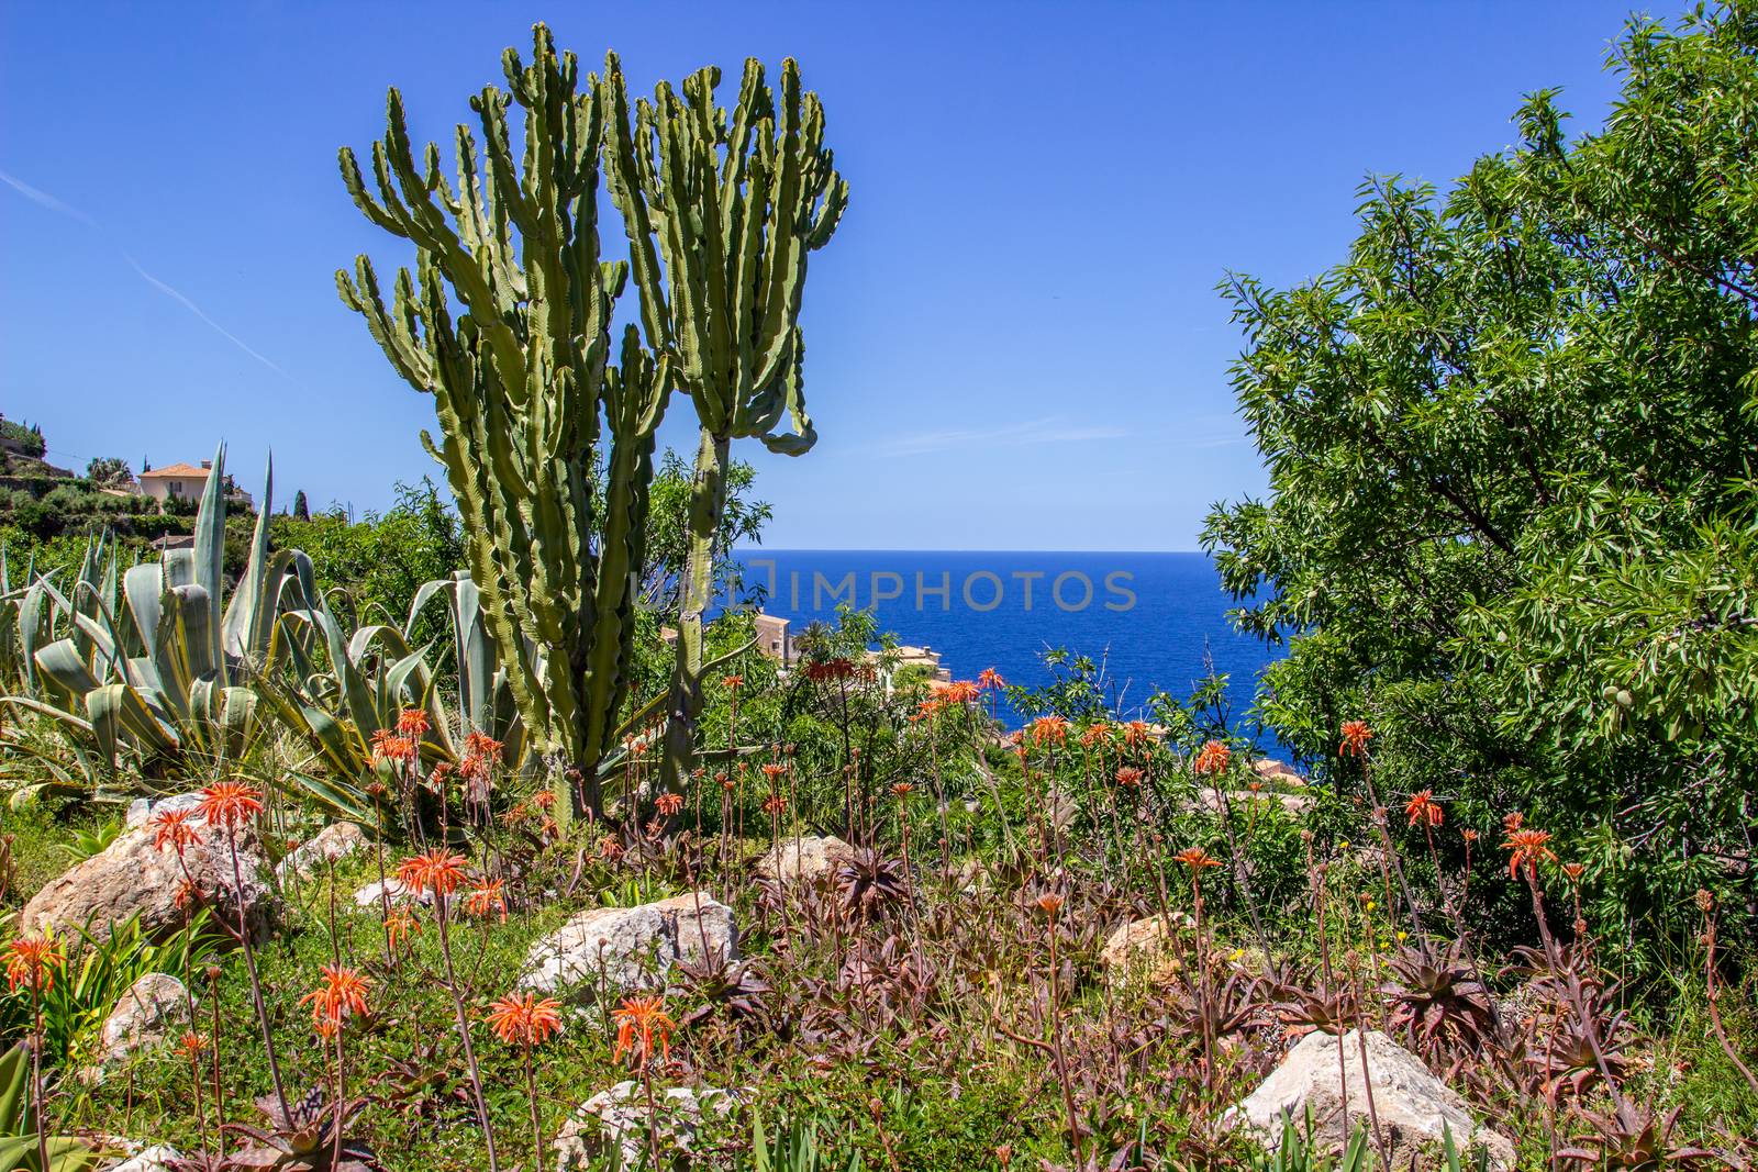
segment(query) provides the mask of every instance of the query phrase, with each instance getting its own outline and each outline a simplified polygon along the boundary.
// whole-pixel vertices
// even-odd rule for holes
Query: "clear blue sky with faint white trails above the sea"
[[[1521,93],[1577,128],[1626,4],[5,4],[0,411],[51,459],[195,460],[381,508],[431,401],[336,299],[404,258],[336,174],[397,84],[445,139],[547,19],[650,88],[802,61],[853,195],[812,258],[774,546],[1185,550],[1262,469],[1215,283],[1313,276],[1368,172],[1436,183]],[[1670,16],[1670,11],[1667,11]],[[726,90],[723,90],[726,93]],[[728,95],[731,97],[731,95]],[[607,207],[608,211],[608,207]],[[619,234],[621,235],[621,234]],[[693,450],[679,402],[665,439]]]

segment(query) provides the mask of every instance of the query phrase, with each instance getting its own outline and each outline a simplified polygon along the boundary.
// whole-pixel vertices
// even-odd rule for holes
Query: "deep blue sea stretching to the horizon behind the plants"
[[[791,620],[793,633],[835,622],[839,603],[877,606],[881,631],[933,648],[955,680],[995,668],[1027,685],[1051,680],[1042,652],[1067,648],[1104,662],[1125,717],[1157,691],[1187,698],[1208,655],[1227,676],[1232,720],[1243,724],[1257,673],[1278,654],[1229,626],[1232,601],[1206,553],[758,546],[738,550],[737,561],[744,589]]]

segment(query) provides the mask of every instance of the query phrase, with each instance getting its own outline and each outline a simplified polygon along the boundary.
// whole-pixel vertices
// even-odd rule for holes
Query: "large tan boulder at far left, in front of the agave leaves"
[[[76,863],[58,879],[49,880],[19,912],[18,928],[23,935],[53,931],[74,938],[76,930],[88,931],[95,940],[107,940],[116,924],[134,915],[141,930],[163,940],[183,928],[192,912],[183,894],[185,880],[192,880],[200,900],[214,908],[234,930],[239,908],[246,928],[262,937],[276,912],[274,886],[262,845],[253,833],[237,833],[237,872],[243,886],[232,877],[232,854],[223,829],[190,819],[197,840],[188,845],[179,863],[171,847],[153,845],[151,815],[158,810],[193,808],[199,796],[167,798],[144,808],[141,817],[130,808],[130,826],[98,854]],[[139,805],[139,803],[135,803]]]

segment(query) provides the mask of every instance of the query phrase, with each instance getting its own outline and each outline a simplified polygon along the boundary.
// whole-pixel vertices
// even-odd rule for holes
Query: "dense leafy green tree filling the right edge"
[[[1754,58],[1746,4],[1633,21],[1600,132],[1536,93],[1445,199],[1371,181],[1341,265],[1224,286],[1271,490],[1204,543],[1290,645],[1262,715],[1554,831],[1624,944],[1758,894]]]

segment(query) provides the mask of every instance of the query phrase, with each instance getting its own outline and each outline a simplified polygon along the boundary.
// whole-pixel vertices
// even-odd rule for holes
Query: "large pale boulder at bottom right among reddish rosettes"
[[[1227,1111],[1224,1123],[1250,1128],[1273,1151],[1282,1144],[1283,1119],[1292,1118],[1296,1126],[1303,1126],[1310,1111],[1315,1140],[1341,1151],[1345,1084],[1350,1130],[1368,1118],[1371,1086],[1373,1109],[1394,1168],[1431,1167],[1427,1154],[1440,1151],[1443,1130],[1452,1132],[1461,1153],[1482,1146],[1496,1167],[1514,1165],[1514,1144],[1478,1126],[1452,1088],[1378,1030],[1368,1031],[1366,1077],[1357,1030],[1345,1033],[1341,1045],[1331,1033],[1308,1033],[1250,1096]]]

